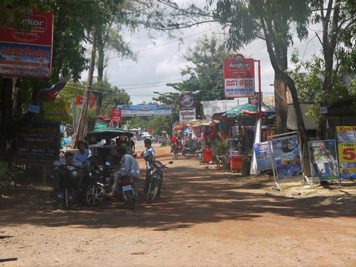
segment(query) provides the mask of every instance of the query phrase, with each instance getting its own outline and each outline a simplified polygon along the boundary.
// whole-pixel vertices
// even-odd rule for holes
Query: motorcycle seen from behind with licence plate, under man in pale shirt
[[[120,169],[120,164],[112,166],[110,162],[106,162],[105,165],[110,166],[110,169]],[[140,199],[135,190],[135,179],[137,178],[133,177],[128,172],[118,172],[120,173],[119,188],[121,189],[124,204],[127,204],[129,209],[133,211],[135,209],[135,201]],[[110,187],[110,191],[112,191],[112,185]]]

